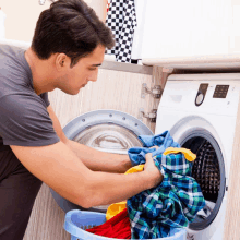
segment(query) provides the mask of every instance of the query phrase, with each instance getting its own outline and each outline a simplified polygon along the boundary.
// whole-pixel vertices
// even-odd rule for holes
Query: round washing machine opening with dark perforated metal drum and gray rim
[[[224,157],[216,140],[204,130],[193,131],[180,145],[196,154],[192,177],[200,184],[206,205],[189,228],[203,230],[215,219],[223,202],[226,187]]]

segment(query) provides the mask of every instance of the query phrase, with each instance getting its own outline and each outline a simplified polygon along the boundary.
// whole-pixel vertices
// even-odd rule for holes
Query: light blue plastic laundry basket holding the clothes
[[[65,214],[64,229],[71,235],[71,240],[116,240],[116,238],[101,237],[85,231],[85,229],[101,225],[105,221],[105,214],[74,209]],[[187,231],[184,228],[175,228],[170,231],[170,236],[160,239],[185,240]]]

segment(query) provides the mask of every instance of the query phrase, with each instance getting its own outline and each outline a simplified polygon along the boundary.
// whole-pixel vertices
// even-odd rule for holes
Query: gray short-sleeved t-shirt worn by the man
[[[0,45],[0,149],[60,141],[47,111],[48,93],[37,95],[24,50]]]

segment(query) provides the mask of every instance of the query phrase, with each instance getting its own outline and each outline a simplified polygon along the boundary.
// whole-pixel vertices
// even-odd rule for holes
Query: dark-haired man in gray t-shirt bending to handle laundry
[[[22,240],[41,182],[83,207],[127,200],[163,179],[151,155],[123,175],[127,156],[68,140],[48,101],[97,80],[110,31],[83,0],[59,0],[37,22],[32,47],[0,46],[0,239]]]

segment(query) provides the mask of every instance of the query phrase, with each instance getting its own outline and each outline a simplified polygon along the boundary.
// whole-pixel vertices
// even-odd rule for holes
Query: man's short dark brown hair
[[[59,0],[43,11],[36,25],[32,48],[39,59],[65,53],[71,68],[103,45],[115,46],[111,31],[83,0]]]

